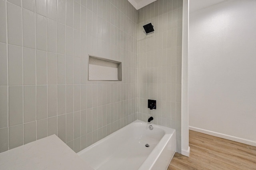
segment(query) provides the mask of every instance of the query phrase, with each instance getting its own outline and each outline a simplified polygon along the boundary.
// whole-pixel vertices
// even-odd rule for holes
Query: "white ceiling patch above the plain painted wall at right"
[[[190,0],[189,1],[189,12],[194,12],[208,6],[218,4],[225,0]]]

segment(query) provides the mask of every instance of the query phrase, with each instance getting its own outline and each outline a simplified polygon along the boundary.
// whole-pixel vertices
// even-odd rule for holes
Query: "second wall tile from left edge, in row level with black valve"
[[[9,126],[23,123],[23,88],[9,86]]]

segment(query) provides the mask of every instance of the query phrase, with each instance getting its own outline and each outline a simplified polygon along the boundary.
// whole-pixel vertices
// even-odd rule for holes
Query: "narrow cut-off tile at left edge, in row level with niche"
[[[6,44],[0,43],[0,85],[7,85],[7,48]]]

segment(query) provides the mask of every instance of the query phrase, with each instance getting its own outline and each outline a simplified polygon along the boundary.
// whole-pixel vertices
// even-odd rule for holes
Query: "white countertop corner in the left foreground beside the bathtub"
[[[0,153],[0,170],[93,170],[56,135]]]

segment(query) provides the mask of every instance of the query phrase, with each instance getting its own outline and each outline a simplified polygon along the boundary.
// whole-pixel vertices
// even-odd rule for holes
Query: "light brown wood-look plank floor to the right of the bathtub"
[[[189,131],[190,157],[175,153],[168,170],[256,170],[256,147]]]

